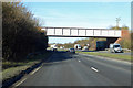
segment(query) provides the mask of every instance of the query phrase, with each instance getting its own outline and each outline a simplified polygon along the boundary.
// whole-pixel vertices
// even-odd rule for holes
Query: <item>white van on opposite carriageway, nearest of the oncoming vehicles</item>
[[[120,44],[110,44],[110,52],[111,53],[123,53],[123,50]]]

